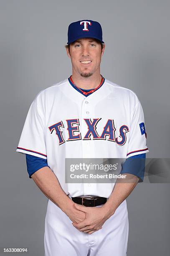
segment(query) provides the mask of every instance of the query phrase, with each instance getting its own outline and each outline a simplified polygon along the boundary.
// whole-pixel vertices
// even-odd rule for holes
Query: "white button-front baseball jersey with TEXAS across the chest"
[[[33,100],[18,152],[47,159],[71,197],[109,197],[115,183],[65,183],[65,158],[128,158],[148,152],[145,121],[137,95],[105,79],[88,97],[68,79]]]

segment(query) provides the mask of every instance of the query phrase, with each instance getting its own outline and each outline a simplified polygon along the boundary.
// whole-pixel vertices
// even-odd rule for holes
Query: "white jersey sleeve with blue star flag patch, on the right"
[[[149,152],[146,138],[147,133],[145,128],[144,113],[141,103],[137,99],[137,104],[134,108],[130,122],[127,158],[130,156]]]

